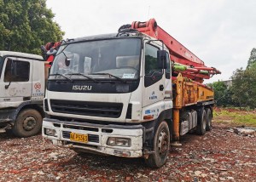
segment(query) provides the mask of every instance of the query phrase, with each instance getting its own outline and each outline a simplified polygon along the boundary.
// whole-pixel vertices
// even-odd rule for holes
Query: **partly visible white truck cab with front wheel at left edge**
[[[19,137],[38,134],[44,116],[42,56],[0,51],[0,132]]]

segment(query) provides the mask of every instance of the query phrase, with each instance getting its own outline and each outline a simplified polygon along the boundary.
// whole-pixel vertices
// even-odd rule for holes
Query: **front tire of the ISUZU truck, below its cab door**
[[[168,124],[160,122],[154,134],[154,153],[145,159],[146,164],[150,168],[160,168],[166,163],[170,149],[170,131]]]

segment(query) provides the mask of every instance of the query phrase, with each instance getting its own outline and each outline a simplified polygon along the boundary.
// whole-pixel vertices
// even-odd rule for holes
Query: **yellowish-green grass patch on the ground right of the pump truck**
[[[218,109],[213,111],[213,118],[216,122],[231,122],[236,125],[256,127],[255,111],[230,111]]]

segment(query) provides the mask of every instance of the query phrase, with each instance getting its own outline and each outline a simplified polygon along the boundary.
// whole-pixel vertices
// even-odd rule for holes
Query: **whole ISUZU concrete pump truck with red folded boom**
[[[154,19],[118,33],[67,40],[55,55],[42,134],[77,152],[165,164],[180,136],[211,129],[207,67]]]

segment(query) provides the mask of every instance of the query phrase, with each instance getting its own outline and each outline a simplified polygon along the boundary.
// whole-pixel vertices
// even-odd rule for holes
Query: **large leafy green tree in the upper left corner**
[[[40,54],[64,35],[46,0],[0,0],[0,49]]]

